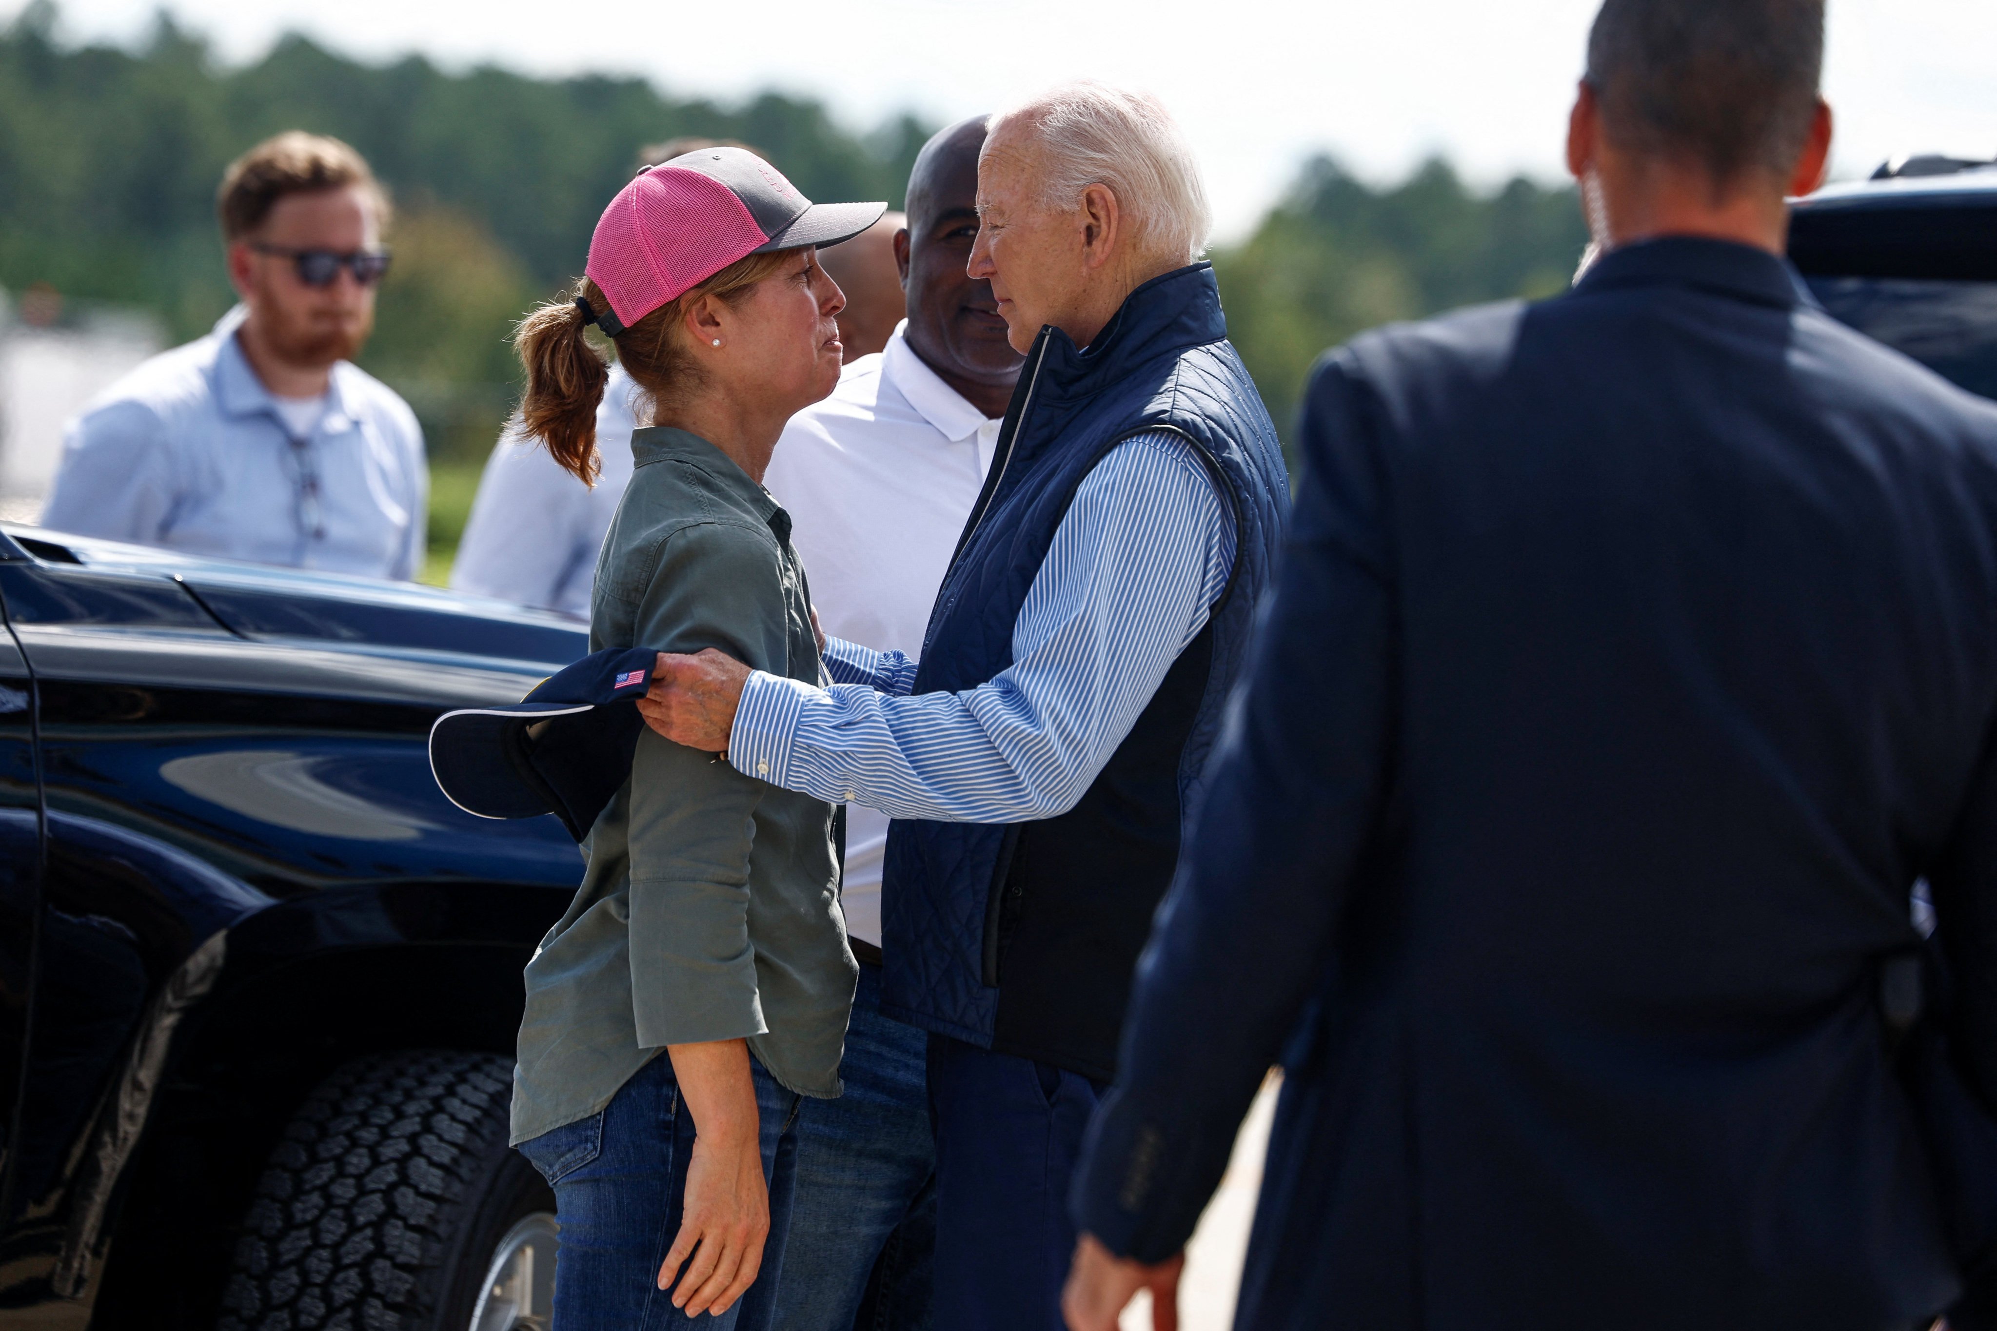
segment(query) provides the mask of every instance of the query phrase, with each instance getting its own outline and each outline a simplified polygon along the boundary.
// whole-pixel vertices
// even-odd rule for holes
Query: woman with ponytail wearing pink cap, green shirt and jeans
[[[815,247],[883,212],[811,204],[739,148],[673,158],[611,200],[573,301],[519,325],[521,423],[583,481],[609,373],[591,323],[651,399],[591,651],[717,647],[821,682],[791,519],[761,481],[785,421],[839,381],[845,297]],[[841,1090],[833,806],[713,758],[639,736],[527,964],[513,1143],[555,1189],[555,1331],[769,1325],[799,1096]]]

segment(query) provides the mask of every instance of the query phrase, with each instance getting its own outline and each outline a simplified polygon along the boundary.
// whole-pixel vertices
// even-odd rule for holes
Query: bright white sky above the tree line
[[[68,38],[132,40],[160,0],[64,0]],[[1206,170],[1222,239],[1310,152],[1372,180],[1448,154],[1474,182],[1562,174],[1598,0],[172,0],[252,60],[286,30],[377,60],[639,74],[723,100],[825,100],[853,128],[943,122],[1092,76],[1160,94]],[[20,8],[0,0],[0,14]],[[1901,152],[1997,156],[1997,4],[1831,0],[1839,176]]]

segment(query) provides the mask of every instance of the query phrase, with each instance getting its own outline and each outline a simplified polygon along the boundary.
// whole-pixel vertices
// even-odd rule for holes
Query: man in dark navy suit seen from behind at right
[[[1170,1299],[1272,1062],[1242,1329],[1975,1321],[1993,1191],[1933,1098],[1987,1149],[1997,409],[1779,257],[1821,52],[1821,0],[1610,0],[1600,261],[1318,369],[1076,1331]]]

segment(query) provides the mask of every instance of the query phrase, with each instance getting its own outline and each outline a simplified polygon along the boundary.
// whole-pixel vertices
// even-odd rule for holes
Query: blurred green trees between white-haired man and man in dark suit
[[[1572,188],[1514,180],[1478,196],[1436,160],[1374,190],[1316,158],[1246,241],[1214,253],[1214,269],[1228,333],[1288,437],[1326,347],[1394,319],[1552,295],[1586,243]]]

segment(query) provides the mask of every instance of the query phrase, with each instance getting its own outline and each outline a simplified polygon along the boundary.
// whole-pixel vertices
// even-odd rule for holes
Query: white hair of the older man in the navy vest
[[[1138,253],[1172,267],[1206,253],[1214,212],[1192,144],[1158,98],[1080,80],[993,116],[985,142],[1012,126],[1034,130],[1046,150],[1048,208],[1072,210],[1088,186],[1108,186]]]

